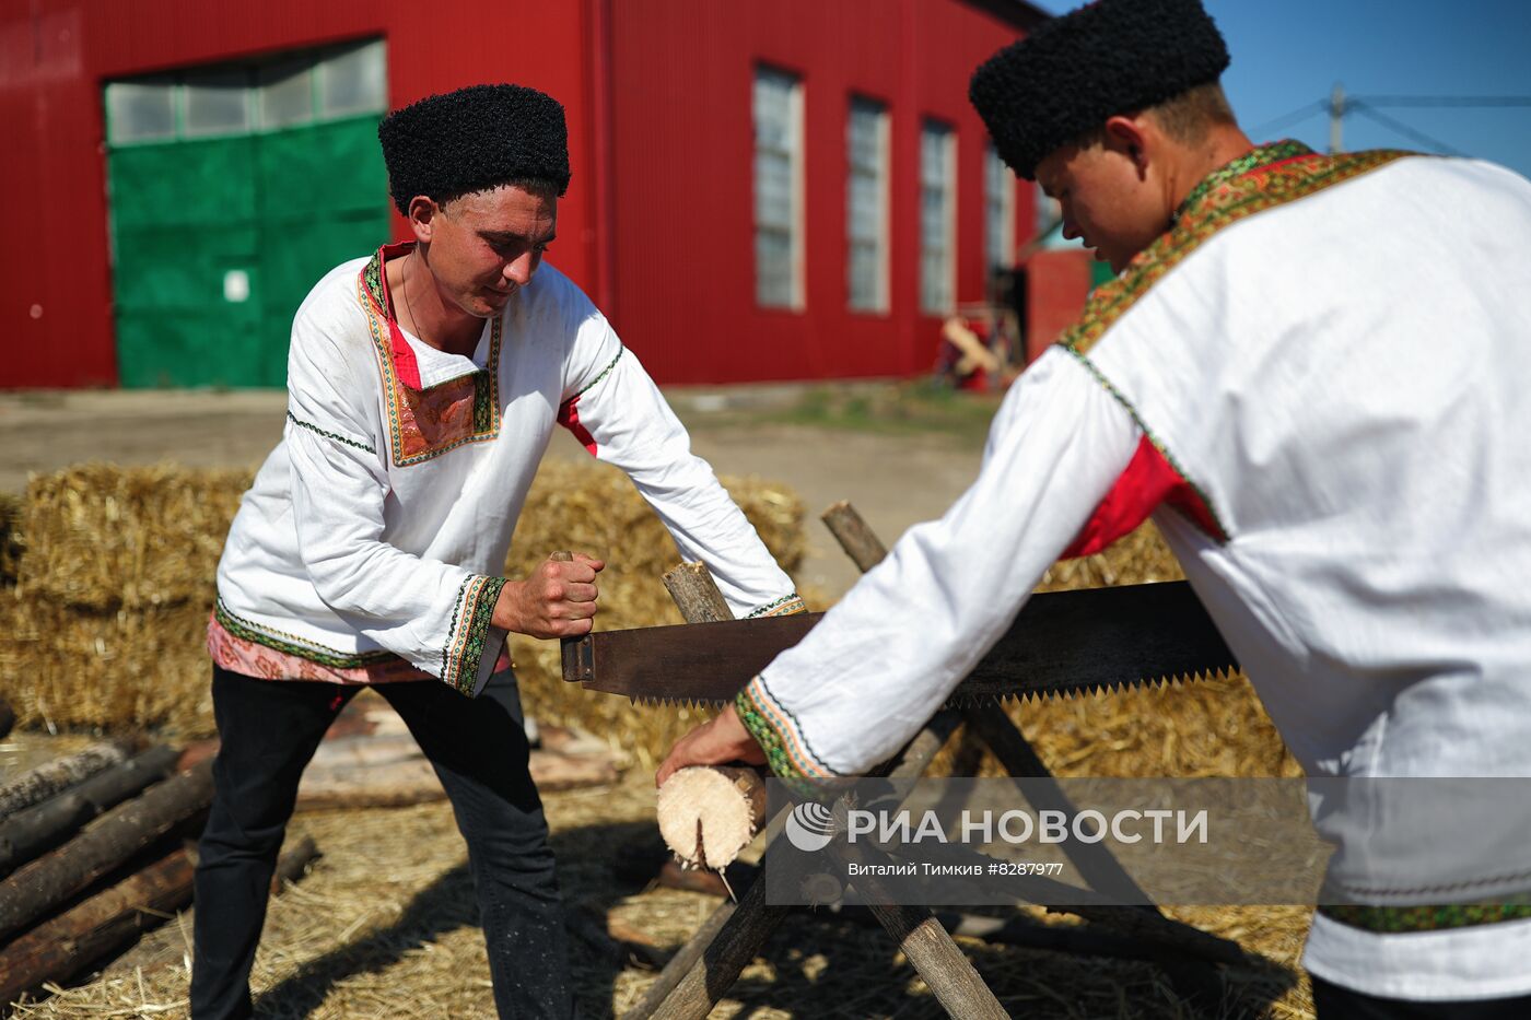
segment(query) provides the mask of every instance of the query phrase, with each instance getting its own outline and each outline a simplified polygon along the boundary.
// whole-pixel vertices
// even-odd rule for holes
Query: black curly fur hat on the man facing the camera
[[[525,86],[468,86],[393,110],[378,124],[400,213],[427,195],[447,202],[508,181],[570,185],[563,106]]]

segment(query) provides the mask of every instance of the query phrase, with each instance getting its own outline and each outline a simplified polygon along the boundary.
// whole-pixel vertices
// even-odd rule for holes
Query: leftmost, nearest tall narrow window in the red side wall
[[[755,70],[755,300],[802,308],[802,83]]]

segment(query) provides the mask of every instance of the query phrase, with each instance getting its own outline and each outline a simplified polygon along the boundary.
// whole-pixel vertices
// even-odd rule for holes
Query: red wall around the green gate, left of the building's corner
[[[32,0],[0,6],[0,387],[116,381],[107,253],[106,80],[386,37],[393,106],[476,81],[559,96],[574,182],[553,259],[599,293],[588,3],[435,0]],[[395,219],[395,230],[401,230]],[[358,253],[363,254],[363,253]]]

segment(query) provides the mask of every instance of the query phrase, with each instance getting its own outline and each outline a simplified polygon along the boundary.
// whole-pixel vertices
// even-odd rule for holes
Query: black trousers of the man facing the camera
[[[196,865],[196,1020],[251,1015],[250,966],[299,776],[358,689],[213,668],[220,746]],[[375,689],[430,760],[467,841],[499,1015],[570,1017],[563,911],[514,675],[495,675],[478,698],[432,680]]]

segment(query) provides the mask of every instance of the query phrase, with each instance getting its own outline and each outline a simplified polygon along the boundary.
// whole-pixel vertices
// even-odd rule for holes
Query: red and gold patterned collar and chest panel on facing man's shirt
[[[387,312],[383,260],[393,251],[392,247],[380,250],[361,270],[357,300],[367,317],[383,378],[393,466],[410,467],[467,443],[499,435],[499,349],[504,320],[496,315],[490,323],[488,368],[429,389],[410,386],[400,371],[398,357],[407,358],[409,346]],[[415,375],[418,378],[418,372]]]

